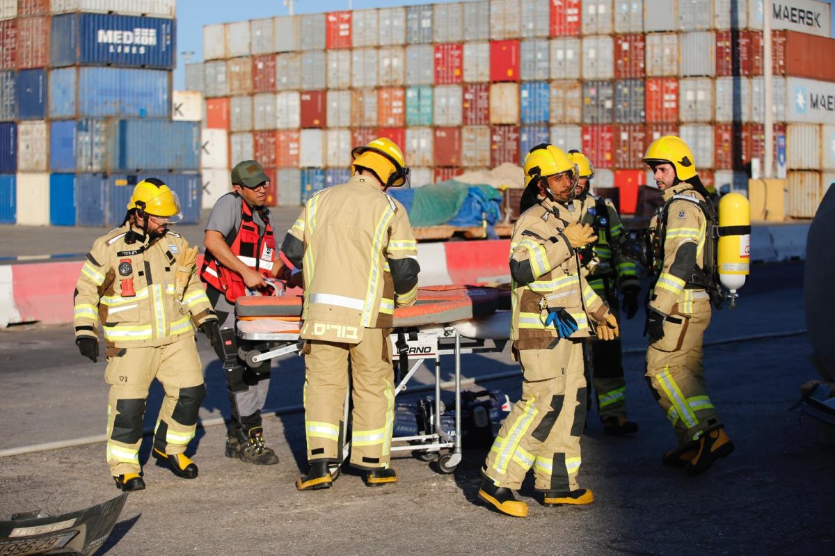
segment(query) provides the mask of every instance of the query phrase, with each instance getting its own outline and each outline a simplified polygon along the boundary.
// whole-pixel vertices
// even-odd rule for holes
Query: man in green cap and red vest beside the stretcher
[[[264,206],[270,178],[261,164],[244,160],[232,169],[232,192],[212,207],[205,228],[205,260],[200,279],[215,307],[220,330],[212,346],[223,363],[232,408],[225,454],[256,465],[278,463],[266,446],[261,410],[270,387],[270,361],[249,366],[238,357],[235,300],[269,289],[265,278],[275,277],[284,265],[276,260],[276,240],[270,210]]]

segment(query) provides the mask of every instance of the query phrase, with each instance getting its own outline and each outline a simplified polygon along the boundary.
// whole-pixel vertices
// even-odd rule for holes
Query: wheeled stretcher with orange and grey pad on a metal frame
[[[396,353],[394,395],[406,392],[408,382],[424,362],[434,367],[433,432],[392,438],[392,452],[416,452],[434,461],[442,473],[453,473],[461,462],[461,412],[456,412],[452,433],[441,426],[441,356],[453,357],[455,407],[461,407],[461,356],[504,351],[510,330],[509,312],[498,311],[500,293],[475,286],[433,286],[417,291],[415,306],[394,311],[392,344]],[[301,351],[301,291],[276,288],[276,296],[241,297],[235,303],[235,330],[239,356],[250,366]],[[351,388],[344,405],[350,415]],[[342,460],[351,443],[345,427]]]

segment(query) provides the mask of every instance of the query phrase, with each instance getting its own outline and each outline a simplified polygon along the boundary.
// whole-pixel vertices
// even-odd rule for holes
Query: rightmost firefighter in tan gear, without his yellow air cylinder
[[[664,462],[695,475],[733,451],[707,397],[701,352],[711,321],[705,247],[712,241],[706,229],[713,208],[696,174],[693,153],[680,138],[655,139],[644,163],[665,202],[650,221],[658,277],[647,306],[646,377],[676,431],[678,446],[664,454]]]

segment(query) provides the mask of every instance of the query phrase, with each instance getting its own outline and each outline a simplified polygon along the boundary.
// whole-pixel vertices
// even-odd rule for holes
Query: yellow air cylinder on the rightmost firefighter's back
[[[735,296],[751,266],[751,208],[744,195],[728,193],[719,201],[719,280]]]

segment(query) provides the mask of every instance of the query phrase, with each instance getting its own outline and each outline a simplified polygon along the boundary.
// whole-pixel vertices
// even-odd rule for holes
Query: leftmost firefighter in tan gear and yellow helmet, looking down
[[[165,397],[152,454],[178,477],[197,477],[184,453],[205,397],[195,327],[216,326],[217,318],[195,276],[197,249],[167,228],[181,218],[167,185],[155,178],[139,182],[123,225],[95,240],[76,285],[75,342],[83,356],[97,361],[99,322],[104,331],[107,462],[125,491],[145,488],[139,444],[154,378]]]

